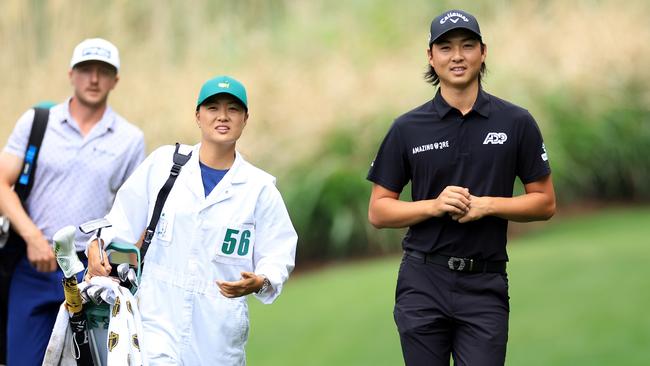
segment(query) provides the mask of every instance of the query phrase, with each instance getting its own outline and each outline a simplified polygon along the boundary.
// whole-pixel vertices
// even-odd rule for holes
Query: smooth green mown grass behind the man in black
[[[508,365],[650,365],[650,208],[553,219],[509,243]],[[250,301],[250,365],[402,365],[399,257],[292,278]]]

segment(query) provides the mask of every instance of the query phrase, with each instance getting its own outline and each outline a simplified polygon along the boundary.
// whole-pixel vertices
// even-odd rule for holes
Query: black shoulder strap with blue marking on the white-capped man
[[[43,142],[43,136],[45,136],[49,116],[49,109],[34,108],[34,123],[32,124],[27,149],[25,150],[23,169],[20,172],[18,181],[14,185],[14,190],[23,203],[27,200],[29,192],[31,192],[32,186],[34,186],[36,161],[38,160],[38,153],[41,151],[41,143]]]

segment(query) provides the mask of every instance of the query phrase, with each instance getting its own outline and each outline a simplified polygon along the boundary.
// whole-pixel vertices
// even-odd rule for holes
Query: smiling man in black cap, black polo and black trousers
[[[503,365],[508,339],[508,221],[555,213],[540,130],[481,87],[487,46],[461,10],[431,22],[433,98],[395,120],[368,173],[368,219],[409,227],[395,294],[407,365]],[[513,197],[516,177],[525,194]],[[399,200],[412,182],[412,202]]]

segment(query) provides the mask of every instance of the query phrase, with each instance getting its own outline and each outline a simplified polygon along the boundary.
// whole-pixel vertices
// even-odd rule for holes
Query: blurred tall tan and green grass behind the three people
[[[433,96],[422,78],[428,28],[450,8],[480,20],[485,89],[536,117],[561,205],[650,200],[643,0],[5,0],[0,139],[30,105],[64,100],[73,47],[104,37],[122,59],[110,104],[144,130],[148,150],[197,142],[200,85],[233,75],[251,112],[238,147],[279,177],[299,259],[394,251],[401,232],[367,224],[364,177],[392,120]]]

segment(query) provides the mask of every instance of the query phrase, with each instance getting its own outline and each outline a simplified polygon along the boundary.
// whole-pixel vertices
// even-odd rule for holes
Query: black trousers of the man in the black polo
[[[407,366],[503,365],[509,312],[505,273],[402,259],[394,316]]]

